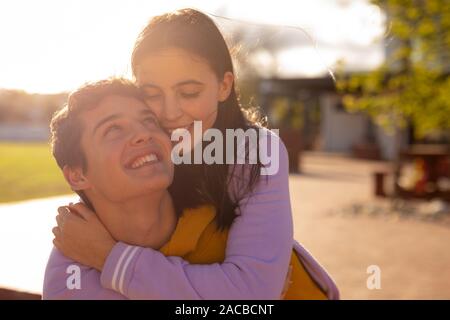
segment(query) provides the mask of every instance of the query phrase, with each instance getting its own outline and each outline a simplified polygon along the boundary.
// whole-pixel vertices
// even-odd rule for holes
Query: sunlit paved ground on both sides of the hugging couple
[[[383,164],[306,154],[290,179],[296,239],[336,280],[343,299],[450,299],[450,228],[417,220],[330,214],[372,201],[371,173]],[[0,205],[0,287],[40,292],[57,197]],[[381,289],[366,286],[381,268]]]

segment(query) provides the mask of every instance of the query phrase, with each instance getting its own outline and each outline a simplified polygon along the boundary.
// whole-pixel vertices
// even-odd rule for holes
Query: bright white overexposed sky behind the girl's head
[[[294,45],[276,55],[278,76],[317,76],[339,59],[354,70],[383,61],[382,43],[374,42],[383,15],[366,0],[2,0],[0,88],[56,93],[129,77],[139,31],[152,16],[184,7],[219,14],[229,25],[277,26],[275,37],[288,33]],[[256,63],[263,71],[269,64],[264,54]]]

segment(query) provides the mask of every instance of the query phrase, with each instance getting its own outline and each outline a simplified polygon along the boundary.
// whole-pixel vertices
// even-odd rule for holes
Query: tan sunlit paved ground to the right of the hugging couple
[[[290,179],[295,236],[327,268],[343,299],[450,299],[450,228],[418,220],[330,214],[372,201],[380,164],[309,154]],[[381,290],[368,290],[367,267],[381,268]]]

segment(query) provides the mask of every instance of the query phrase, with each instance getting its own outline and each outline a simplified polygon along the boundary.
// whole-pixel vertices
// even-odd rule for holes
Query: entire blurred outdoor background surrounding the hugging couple
[[[280,129],[295,238],[342,298],[450,299],[447,0],[0,2],[0,299],[40,298],[56,208],[76,199],[51,115],[130,77],[139,31],[184,7],[215,19],[243,106]]]

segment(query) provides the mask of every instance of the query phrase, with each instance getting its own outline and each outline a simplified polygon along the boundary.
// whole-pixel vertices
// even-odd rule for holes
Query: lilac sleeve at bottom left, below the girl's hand
[[[78,276],[79,278],[76,279],[75,277]],[[126,297],[102,287],[100,272],[74,262],[53,248],[45,269],[42,299],[123,300]]]

